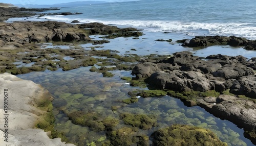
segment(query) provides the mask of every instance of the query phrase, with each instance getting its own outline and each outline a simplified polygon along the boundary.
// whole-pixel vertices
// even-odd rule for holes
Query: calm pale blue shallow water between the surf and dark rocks
[[[194,55],[199,57],[207,57],[209,55],[228,55],[228,56],[238,56],[242,55],[248,59],[252,57],[256,57],[256,51],[248,51],[244,50],[243,47],[232,47],[229,45],[221,45],[221,46],[209,46],[206,48],[202,48],[200,50],[196,50],[190,47],[183,47],[181,43],[175,43],[176,40],[181,39],[191,39],[192,36],[188,36],[186,34],[181,33],[164,33],[164,32],[147,32],[142,31],[143,36],[138,37],[139,39],[130,38],[115,38],[115,39],[106,39],[109,40],[110,43],[105,43],[101,45],[92,45],[81,44],[80,46],[83,48],[90,46],[101,46],[99,48],[95,48],[96,50],[117,50],[119,55],[125,54],[137,54],[137,55],[172,55],[176,52],[181,51],[189,51],[193,52]],[[91,38],[99,39],[100,35],[90,36]],[[166,41],[156,41],[157,39],[172,39],[172,43]],[[135,49],[133,51],[131,49]],[[88,49],[88,48],[86,48]]]

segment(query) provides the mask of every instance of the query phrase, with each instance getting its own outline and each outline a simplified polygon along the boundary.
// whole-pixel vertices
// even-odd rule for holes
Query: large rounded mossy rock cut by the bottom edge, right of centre
[[[210,130],[188,125],[172,125],[151,136],[153,145],[227,145]]]

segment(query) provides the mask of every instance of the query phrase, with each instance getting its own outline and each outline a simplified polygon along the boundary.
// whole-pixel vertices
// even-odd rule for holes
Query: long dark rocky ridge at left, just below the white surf
[[[99,28],[92,28],[90,30],[84,30],[84,26],[94,26]],[[110,33],[129,33],[125,30],[131,29],[119,29],[117,27],[105,26],[101,23],[89,23],[87,25],[70,25],[65,22],[57,21],[44,21],[44,22],[14,22],[14,23],[0,23],[0,28],[3,30],[0,32],[0,46],[14,45],[20,47],[27,43],[34,42],[49,42],[49,41],[90,41],[94,44],[102,44],[109,42],[108,40],[91,41],[89,34],[110,34]],[[93,30],[99,30],[94,32]],[[15,35],[13,35],[15,34]],[[122,36],[122,35],[120,35]]]

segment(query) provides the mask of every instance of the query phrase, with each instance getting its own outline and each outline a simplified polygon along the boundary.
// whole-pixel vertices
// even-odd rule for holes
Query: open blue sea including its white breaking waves
[[[220,35],[256,39],[256,4],[252,0],[145,0],[107,3],[54,12],[81,15],[45,16],[50,20],[102,22],[105,25],[136,27],[150,32],[176,32],[191,36]]]

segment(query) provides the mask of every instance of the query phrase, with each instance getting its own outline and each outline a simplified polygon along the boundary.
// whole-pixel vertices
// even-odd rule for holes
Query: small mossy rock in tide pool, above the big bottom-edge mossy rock
[[[132,114],[124,112],[120,114],[124,124],[139,127],[140,129],[147,130],[157,125],[157,119],[154,115],[145,114]]]

